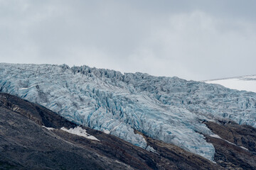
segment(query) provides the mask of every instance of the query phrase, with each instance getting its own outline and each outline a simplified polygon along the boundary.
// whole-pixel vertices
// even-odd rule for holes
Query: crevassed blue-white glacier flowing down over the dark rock
[[[213,161],[204,120],[256,128],[256,94],[218,84],[87,66],[0,63],[0,91],[146,149],[143,132]]]

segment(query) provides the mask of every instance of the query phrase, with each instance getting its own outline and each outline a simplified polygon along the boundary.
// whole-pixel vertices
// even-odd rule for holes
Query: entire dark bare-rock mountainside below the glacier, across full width
[[[47,108],[0,94],[0,169],[255,169],[255,129],[246,126],[240,131],[239,125],[235,128],[214,123],[206,125],[223,139],[230,142],[236,139],[238,145],[241,143],[240,146],[250,151],[207,136],[216,149],[217,164],[214,164],[144,134],[141,135],[155,153],[113,135],[82,127],[100,141],[89,140],[60,130],[77,125]],[[249,131],[246,133],[246,130]],[[221,135],[221,132],[225,133]],[[225,135],[230,132],[233,135]]]

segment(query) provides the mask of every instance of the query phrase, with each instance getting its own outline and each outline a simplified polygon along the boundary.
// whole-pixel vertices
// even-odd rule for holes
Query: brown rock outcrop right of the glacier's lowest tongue
[[[256,169],[256,129],[233,122],[206,122],[218,137],[206,136],[215,147],[215,162],[225,169]]]

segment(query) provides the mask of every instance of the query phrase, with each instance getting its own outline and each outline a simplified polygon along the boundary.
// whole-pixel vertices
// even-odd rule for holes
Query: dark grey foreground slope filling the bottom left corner
[[[0,169],[130,169],[6,108],[0,109],[0,141]]]

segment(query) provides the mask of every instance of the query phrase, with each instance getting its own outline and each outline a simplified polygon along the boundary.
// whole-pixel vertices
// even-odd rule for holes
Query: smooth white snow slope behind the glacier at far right
[[[230,89],[256,92],[256,75],[245,77],[233,77],[228,79],[215,79],[205,81],[210,84],[220,84]]]

